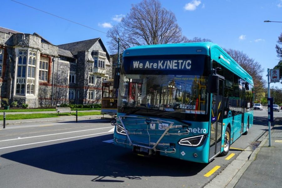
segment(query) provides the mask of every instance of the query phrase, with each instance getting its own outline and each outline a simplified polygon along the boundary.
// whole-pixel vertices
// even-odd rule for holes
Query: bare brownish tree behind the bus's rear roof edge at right
[[[250,58],[242,51],[233,49],[224,49],[249,75],[253,77],[254,94],[258,97],[264,97],[266,81],[263,79],[262,73],[264,69],[259,62]]]

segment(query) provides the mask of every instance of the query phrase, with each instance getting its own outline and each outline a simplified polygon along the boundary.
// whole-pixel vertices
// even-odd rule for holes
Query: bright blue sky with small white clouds
[[[40,34],[51,43],[66,44],[100,37],[129,13],[141,0],[15,0],[48,13],[86,25],[57,18],[11,0],[1,0],[1,27]],[[182,34],[192,39],[211,39],[223,48],[243,51],[264,68],[277,65],[275,45],[282,32],[282,0],[163,0],[164,8],[175,13]],[[104,32],[104,33],[103,33]],[[281,73],[282,74],[282,73]],[[280,83],[270,86],[282,88]]]

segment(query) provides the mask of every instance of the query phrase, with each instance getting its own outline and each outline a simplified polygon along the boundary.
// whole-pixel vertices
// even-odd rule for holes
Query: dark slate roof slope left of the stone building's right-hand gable
[[[99,39],[100,38],[72,42],[68,44],[60,44],[58,47],[59,49],[61,48],[64,50],[69,50],[73,55],[76,55],[78,51],[88,51]]]

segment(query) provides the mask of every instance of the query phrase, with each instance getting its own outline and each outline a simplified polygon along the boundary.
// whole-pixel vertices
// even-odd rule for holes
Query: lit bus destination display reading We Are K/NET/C
[[[191,60],[131,60],[131,70],[191,70]]]

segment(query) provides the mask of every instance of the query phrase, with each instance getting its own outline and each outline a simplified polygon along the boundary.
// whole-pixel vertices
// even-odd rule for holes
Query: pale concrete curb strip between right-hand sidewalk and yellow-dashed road
[[[246,151],[243,151],[234,159],[219,175],[212,179],[204,188],[233,188],[243,173],[247,170],[248,166],[255,160],[255,157],[262,146],[268,139],[266,131],[261,137],[262,141],[259,146],[252,151],[249,146]]]

